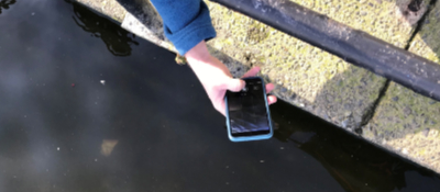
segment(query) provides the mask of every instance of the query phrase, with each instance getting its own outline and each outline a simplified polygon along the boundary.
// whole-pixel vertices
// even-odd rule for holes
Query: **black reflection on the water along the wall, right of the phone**
[[[405,176],[411,171],[418,171],[420,178],[440,179],[283,101],[271,111],[277,124],[274,137],[315,157],[348,191],[402,190],[407,187]]]

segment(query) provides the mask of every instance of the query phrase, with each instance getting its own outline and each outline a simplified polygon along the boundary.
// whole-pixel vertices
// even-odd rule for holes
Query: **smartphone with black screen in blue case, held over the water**
[[[227,126],[232,142],[261,140],[274,135],[266,89],[260,77],[243,78],[240,92],[227,91]]]

